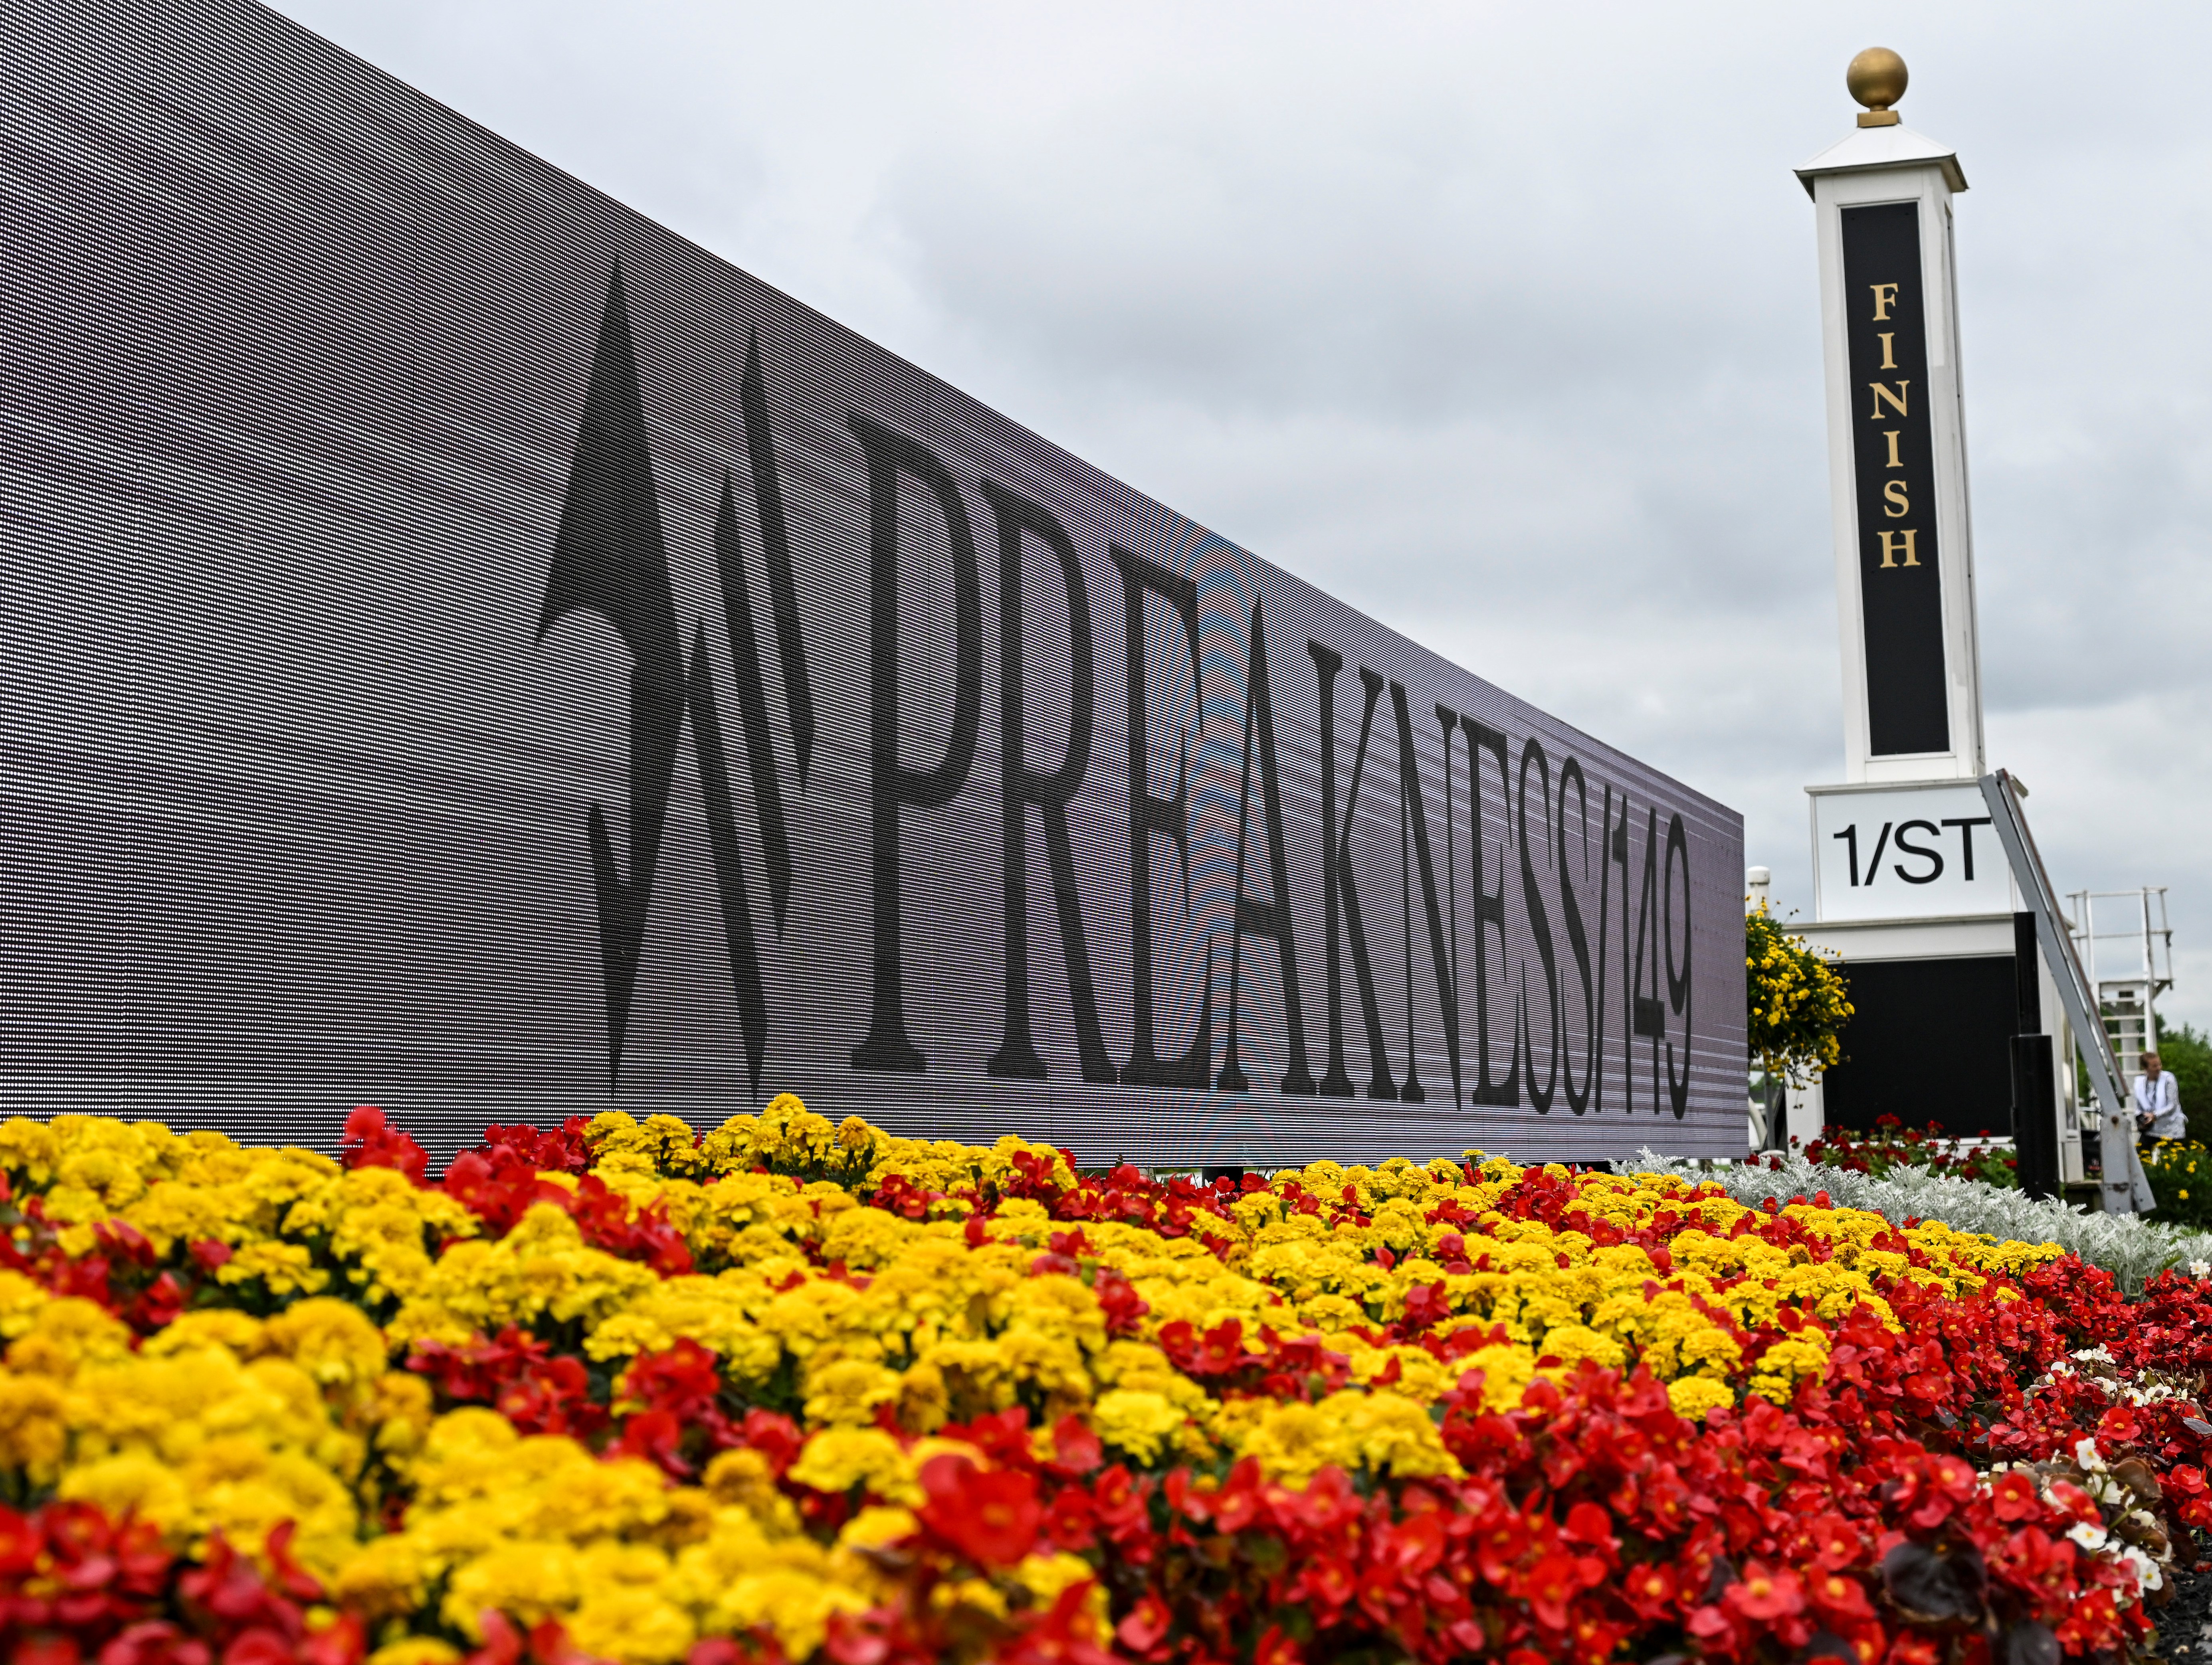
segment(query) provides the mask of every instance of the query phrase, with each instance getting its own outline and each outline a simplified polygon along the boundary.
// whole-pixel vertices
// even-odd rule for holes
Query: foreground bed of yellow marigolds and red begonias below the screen
[[[347,1132],[0,1128],[18,1661],[2026,1665],[2212,1526],[2199,1282],[1827,1194]]]

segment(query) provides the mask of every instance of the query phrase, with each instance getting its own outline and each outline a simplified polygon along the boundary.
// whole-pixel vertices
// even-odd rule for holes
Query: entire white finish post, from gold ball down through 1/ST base
[[[1874,46],[1845,73],[1858,126],[1796,170],[1814,201],[1827,378],[1836,615],[1843,639],[1843,781],[1807,787],[1814,924],[1807,942],[1847,962],[1913,964],[1918,986],[1960,986],[1962,966],[2015,949],[2020,907],[1984,803],[1982,661],[1966,498],[1951,199],[1958,157],[1891,108],[1905,60]],[[1869,977],[1849,1072],[1792,1095],[1812,1137],[1878,1110],[1913,1059],[1885,1002],[1909,984]],[[1876,993],[1876,991],[1891,993]],[[1986,1035],[1980,1041],[1991,1039]],[[1997,1055],[2004,1057],[2002,1053]],[[1982,1066],[1975,1066],[1980,1070]],[[2011,1072],[1960,1077],[1997,1125]],[[1836,1103],[1827,1103],[1827,1095]]]

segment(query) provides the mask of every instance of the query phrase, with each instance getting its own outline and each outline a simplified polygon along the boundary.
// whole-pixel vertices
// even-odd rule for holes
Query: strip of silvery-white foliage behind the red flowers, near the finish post
[[[1767,1167],[1765,1161],[1705,1165],[1655,1156],[1650,1150],[1637,1152],[1635,1167],[1692,1185],[1714,1181],[1750,1207],[1767,1198],[1790,1203],[1827,1192],[1836,1207],[1863,1207],[1898,1225],[1942,1221],[1955,1232],[1978,1232],[1997,1240],[2057,1243],[2110,1271],[2128,1294],[2168,1267],[2185,1267],[2199,1278],[2212,1274],[2208,1232],[2181,1232],[2135,1214],[2090,1214],[2057,1198],[2037,1201],[1978,1179],[1931,1174],[1927,1167],[1893,1167],[1887,1176],[1874,1179],[1849,1167],[1820,1167],[1798,1154],[1783,1156],[1778,1167]]]

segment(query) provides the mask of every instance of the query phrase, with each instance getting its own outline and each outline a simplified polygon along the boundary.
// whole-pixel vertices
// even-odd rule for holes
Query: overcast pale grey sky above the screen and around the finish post
[[[1812,203],[1960,153],[1993,765],[2212,1019],[2212,9],[281,0],[1745,818],[1843,778]],[[2199,115],[2190,115],[2199,111]]]

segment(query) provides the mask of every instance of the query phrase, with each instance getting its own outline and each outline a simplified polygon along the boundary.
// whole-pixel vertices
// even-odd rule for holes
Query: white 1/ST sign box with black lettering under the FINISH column
[[[2013,876],[1973,781],[1812,789],[1814,915],[2011,913]]]

